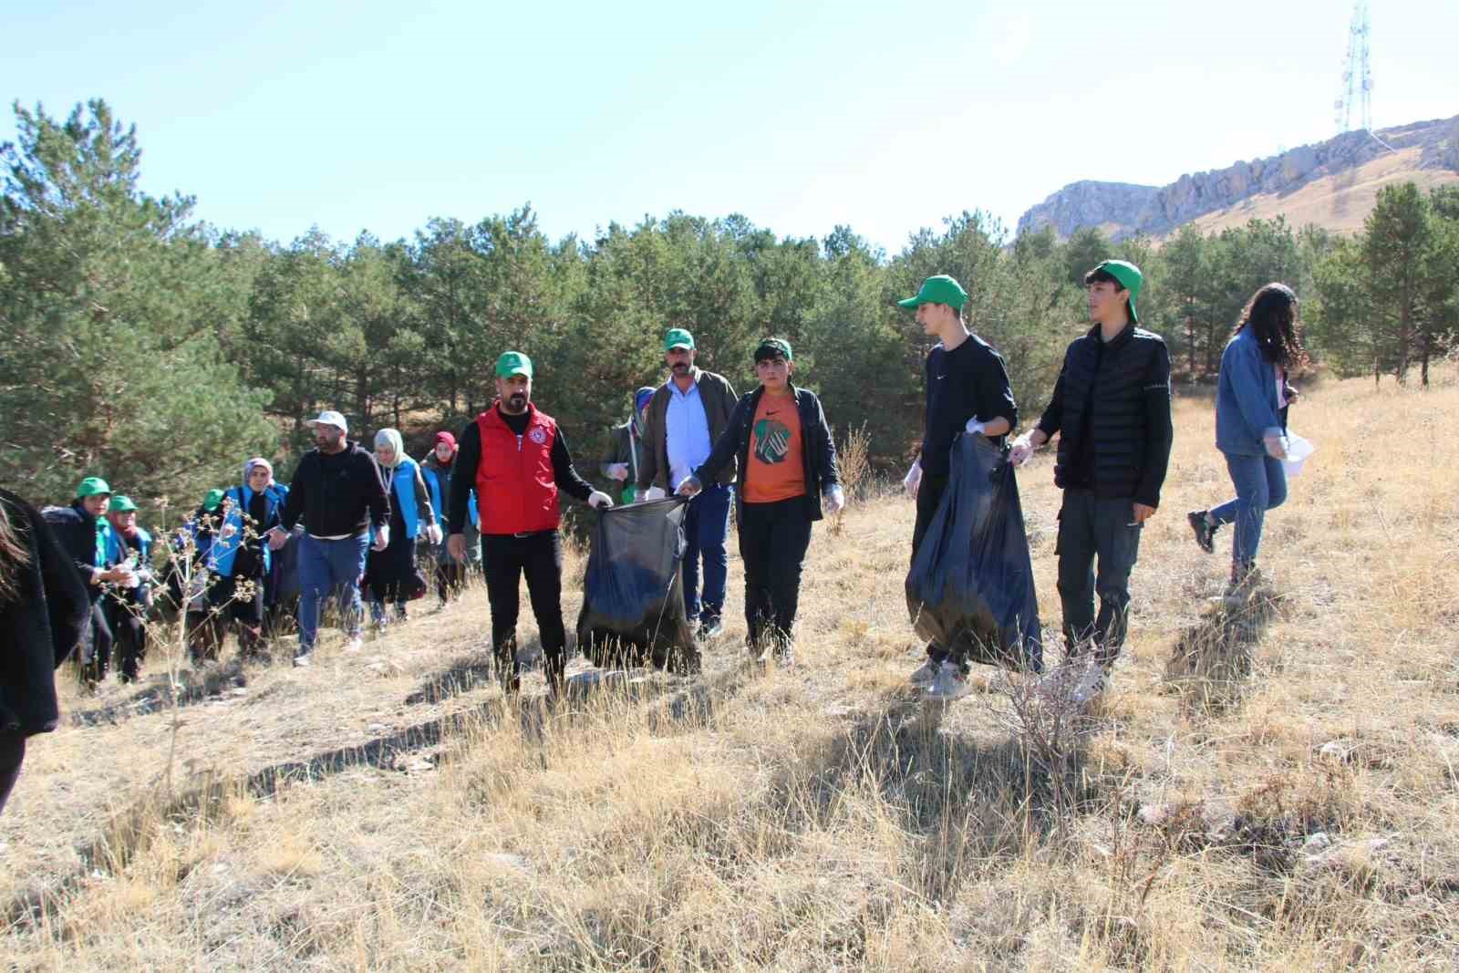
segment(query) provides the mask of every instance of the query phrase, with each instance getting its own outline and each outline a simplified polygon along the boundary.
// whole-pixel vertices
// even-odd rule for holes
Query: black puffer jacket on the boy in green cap
[[[1064,353],[1039,429],[1059,436],[1053,481],[1160,506],[1170,464],[1170,352],[1134,324],[1104,343],[1099,325]],[[1087,441],[1085,441],[1087,436]]]

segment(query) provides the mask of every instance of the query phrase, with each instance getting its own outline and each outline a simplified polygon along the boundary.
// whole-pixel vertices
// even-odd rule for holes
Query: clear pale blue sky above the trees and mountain
[[[1373,7],[1374,124],[1459,114],[1459,3]],[[894,252],[964,209],[1011,226],[1075,179],[1164,184],[1332,136],[1350,12],[9,3],[0,95],[53,115],[105,98],[137,125],[143,188],[285,242],[531,201],[553,238],[681,209]]]

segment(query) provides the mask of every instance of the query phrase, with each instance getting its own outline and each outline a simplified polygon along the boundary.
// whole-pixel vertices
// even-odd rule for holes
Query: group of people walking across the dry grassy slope
[[[1125,642],[1139,535],[1160,508],[1170,457],[1170,356],[1158,334],[1138,327],[1142,282],[1138,267],[1119,260],[1085,274],[1091,327],[1068,346],[1039,422],[1013,443],[1005,439],[1018,425],[1017,400],[1002,356],[967,327],[967,292],[953,277],[934,276],[899,302],[937,338],[924,368],[921,446],[903,480],[916,503],[913,557],[947,490],[959,436],[994,441],[1014,465],[1058,436],[1062,633],[1067,655],[1094,674],[1077,687],[1081,700],[1103,691]],[[1281,461],[1287,410],[1297,398],[1290,376],[1306,362],[1297,308],[1285,284],[1262,287],[1221,357],[1215,445],[1236,496],[1192,511],[1188,522],[1204,551],[1214,550],[1217,530],[1234,525],[1231,605],[1250,597],[1263,516],[1287,493]],[[756,346],[757,385],[743,395],[724,375],[696,365],[690,331],[668,330],[662,347],[667,381],[635,392],[600,470],[622,484],[623,502],[673,495],[686,505],[680,581],[700,640],[724,629],[725,546],[735,511],[746,642],[756,658],[788,665],[811,525],[846,502],[826,413],[814,392],[795,384],[794,352],[783,338]],[[204,579],[194,592],[204,616],[200,637],[216,645],[220,626],[231,624],[241,651],[251,652],[263,637],[266,608],[277,600],[273,560],[295,543],[295,665],[311,664],[321,604],[331,597],[341,608],[347,651],[357,649],[365,598],[376,624],[387,624],[425,592],[416,560],[422,543],[436,562],[442,605],[480,565],[492,651],[509,693],[519,689],[525,576],[549,691],[560,693],[568,642],[560,495],[597,509],[611,508],[613,499],[573,467],[562,427],[534,398],[534,378],[528,356],[502,353],[496,400],[460,433],[438,432],[423,462],[406,455],[395,429],[382,429],[374,449],[365,449],[349,439],[337,411],[309,420],[315,446],[287,486],[274,480],[267,460],[249,460],[239,484],[209,493],[182,538]],[[153,538],[137,525],[136,503],[99,477],[82,480],[70,505],[44,515],[0,492],[0,610],[4,637],[20,646],[0,654],[3,804],[25,735],[54,726],[54,687],[38,689],[50,681],[50,668],[80,646],[86,678],[102,678],[112,655],[121,680],[137,677],[156,579]],[[25,616],[23,624],[12,614]],[[959,646],[932,643],[910,681],[929,699],[951,700],[967,691],[967,675]]]

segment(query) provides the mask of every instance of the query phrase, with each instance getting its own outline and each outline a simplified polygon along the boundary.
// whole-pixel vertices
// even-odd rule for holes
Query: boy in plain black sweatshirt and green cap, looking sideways
[[[963,306],[967,292],[947,274],[928,277],[915,298],[897,305],[916,311],[922,330],[938,338],[926,356],[926,416],[922,451],[902,484],[916,500],[912,560],[943,502],[950,474],[953,441],[982,435],[999,446],[1018,423],[1018,404],[1008,384],[1002,356],[967,330]],[[926,662],[912,672],[912,686],[929,699],[954,700],[967,694],[967,659],[929,642]]]

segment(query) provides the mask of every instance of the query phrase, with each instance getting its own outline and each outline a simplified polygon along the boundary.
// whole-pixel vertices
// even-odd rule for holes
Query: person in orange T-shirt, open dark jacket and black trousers
[[[795,610],[811,524],[846,505],[836,443],[816,394],[791,384],[791,344],[765,338],[754,350],[760,387],[735,403],[709,458],[678,487],[694,496],[738,460],[735,512],[744,562],[744,620],[750,651],[794,662]]]

